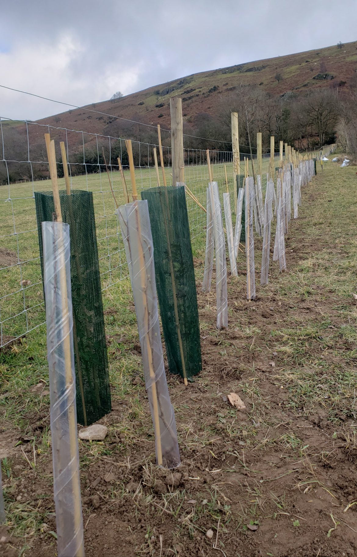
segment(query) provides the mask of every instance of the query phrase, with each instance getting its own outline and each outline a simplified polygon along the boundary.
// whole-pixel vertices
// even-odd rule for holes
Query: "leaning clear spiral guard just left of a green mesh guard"
[[[134,294],[145,385],[155,431],[157,464],[175,468],[180,465],[180,453],[164,368],[148,202],[134,201],[120,206],[116,212]]]

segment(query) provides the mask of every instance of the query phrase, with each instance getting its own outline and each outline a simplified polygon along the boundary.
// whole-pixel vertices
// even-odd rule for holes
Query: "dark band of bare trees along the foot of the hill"
[[[276,76],[281,79],[281,76]],[[278,141],[295,145],[297,149],[305,150],[318,148],[326,143],[334,143],[336,134],[339,133],[346,148],[357,152],[357,74],[356,78],[348,84],[341,86],[325,86],[314,91],[287,92],[280,96],[273,96],[263,92],[260,87],[237,86],[230,96],[222,97],[221,106],[216,108],[214,115],[201,112],[190,115],[190,100],[183,102],[184,113],[184,147],[186,149],[232,150],[231,145],[231,112],[238,113],[239,119],[239,144],[241,153],[256,153],[256,133],[262,132],[263,151],[270,148],[270,136],[275,136],[276,148]],[[119,92],[118,92],[119,95]],[[114,95],[113,95],[114,96]],[[120,96],[116,97],[120,98]],[[153,147],[148,144],[157,144],[157,129],[149,120],[149,116],[142,113],[132,114],[133,123],[116,119],[114,117],[100,116],[104,129],[102,134],[111,136],[109,140],[95,135],[84,134],[85,144],[82,144],[82,135],[75,136],[75,142],[70,144],[71,173],[92,173],[105,171],[102,149],[104,148],[107,164],[118,164],[121,158],[124,167],[128,165],[128,155],[124,141],[115,138],[130,138],[133,140],[133,154],[136,165],[153,165]],[[148,125],[141,125],[149,124]],[[31,130],[32,126],[28,126]],[[33,126],[35,128],[35,126]],[[7,183],[7,173],[10,181],[47,177],[48,165],[44,141],[38,134],[30,136],[30,160],[33,163],[18,163],[16,161],[28,160],[27,137],[25,126],[3,125],[5,159],[12,160],[6,166],[0,162],[0,184]],[[53,130],[56,141],[63,140]],[[52,131],[51,131],[52,134]],[[77,143],[76,143],[77,141]],[[166,148],[171,144],[170,134],[162,129],[164,162],[170,162],[170,153]],[[136,142],[140,142],[136,143]],[[59,149],[57,149],[58,174],[62,175]],[[192,162],[192,153],[186,154],[186,159]],[[195,162],[195,155],[193,157]],[[86,167],[85,167],[86,165]]]

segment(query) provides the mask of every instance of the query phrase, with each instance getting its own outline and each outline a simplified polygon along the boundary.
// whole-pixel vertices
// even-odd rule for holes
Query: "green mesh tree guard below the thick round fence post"
[[[197,292],[184,186],[150,188],[155,278],[171,373],[192,377],[202,369]]]

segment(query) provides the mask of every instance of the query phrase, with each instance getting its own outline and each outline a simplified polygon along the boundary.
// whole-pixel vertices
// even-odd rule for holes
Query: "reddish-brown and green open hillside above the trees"
[[[160,123],[169,128],[170,96],[182,97],[184,120],[187,121],[200,113],[213,116],[219,113],[224,102],[234,95],[241,83],[261,87],[274,96],[287,92],[301,94],[332,84],[344,87],[355,75],[356,62],[357,41],[346,43],[341,49],[334,45],[277,58],[238,63],[155,85],[115,101],[97,102],[82,109],[66,111],[39,120],[39,123],[92,133],[110,133],[111,130],[105,129],[111,123],[110,117],[90,114],[83,110],[87,108],[145,124]],[[280,82],[275,78],[277,74],[281,74]]]

